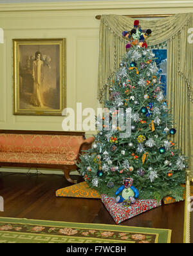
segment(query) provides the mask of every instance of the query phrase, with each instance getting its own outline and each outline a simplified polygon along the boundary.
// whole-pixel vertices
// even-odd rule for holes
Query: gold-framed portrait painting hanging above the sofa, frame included
[[[60,116],[66,108],[66,39],[13,39],[14,114]]]

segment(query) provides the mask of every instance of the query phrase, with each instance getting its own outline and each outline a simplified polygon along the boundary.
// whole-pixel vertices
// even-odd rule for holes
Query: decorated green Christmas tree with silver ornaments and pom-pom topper
[[[80,173],[90,187],[99,193],[115,197],[125,178],[131,178],[138,198],[156,199],[170,196],[183,199],[187,159],[175,148],[173,126],[160,74],[146,39],[151,30],[142,30],[139,21],[122,36],[127,38],[127,52],[112,81],[109,100],[111,129],[106,131],[104,116],[102,131],[95,136],[93,147],[80,156]],[[124,112],[120,112],[124,109]],[[131,136],[122,138],[120,127],[113,127],[113,116],[126,119],[131,109]],[[178,132],[178,131],[177,131]],[[115,195],[116,193],[116,195]]]

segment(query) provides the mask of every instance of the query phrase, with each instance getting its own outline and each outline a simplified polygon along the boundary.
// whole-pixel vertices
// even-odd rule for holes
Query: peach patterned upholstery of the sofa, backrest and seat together
[[[82,136],[0,134],[0,162],[75,164]]]

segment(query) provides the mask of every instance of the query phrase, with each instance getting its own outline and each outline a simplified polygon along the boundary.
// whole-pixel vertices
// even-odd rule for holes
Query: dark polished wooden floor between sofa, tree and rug
[[[80,176],[74,177],[82,181]],[[0,195],[5,208],[0,216],[115,224],[100,199],[55,197],[55,191],[66,186],[71,184],[63,175],[0,173]],[[171,242],[181,243],[183,215],[184,202],[176,202],[151,209],[119,225],[172,229]]]

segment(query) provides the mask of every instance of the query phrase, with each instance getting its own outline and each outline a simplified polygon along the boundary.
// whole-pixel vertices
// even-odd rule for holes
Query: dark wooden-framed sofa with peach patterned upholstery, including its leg
[[[66,179],[91,147],[84,132],[0,130],[0,167],[62,169]]]

